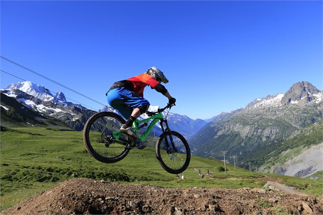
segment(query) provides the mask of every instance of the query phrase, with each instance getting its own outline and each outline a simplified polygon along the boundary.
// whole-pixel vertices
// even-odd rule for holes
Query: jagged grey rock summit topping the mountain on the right
[[[316,99],[315,95],[320,94],[320,91],[310,82],[300,81],[293,84],[281,99],[282,105],[295,104],[299,101],[311,102]]]

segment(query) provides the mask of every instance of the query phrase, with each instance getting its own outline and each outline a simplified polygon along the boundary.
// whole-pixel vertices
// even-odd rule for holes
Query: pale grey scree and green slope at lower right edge
[[[282,142],[264,155],[265,163],[257,171],[308,177],[323,170],[323,120]],[[312,176],[316,179],[318,176]]]

